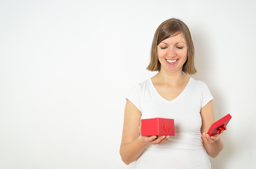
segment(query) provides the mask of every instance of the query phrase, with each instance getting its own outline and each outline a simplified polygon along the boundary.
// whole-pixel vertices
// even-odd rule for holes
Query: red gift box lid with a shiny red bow
[[[226,129],[226,125],[230,119],[231,119],[231,115],[227,114],[222,118],[220,118],[219,120],[217,120],[216,122],[212,123],[209,130],[207,131],[207,134],[209,134],[210,136],[215,135],[217,133],[220,134],[221,132],[223,132],[223,130]]]

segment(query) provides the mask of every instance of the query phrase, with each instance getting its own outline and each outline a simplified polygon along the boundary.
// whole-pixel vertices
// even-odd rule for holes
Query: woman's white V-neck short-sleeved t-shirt
[[[210,168],[202,145],[200,110],[213,96],[204,82],[190,77],[179,96],[168,101],[148,79],[137,84],[126,98],[140,110],[141,119],[174,119],[175,135],[161,144],[148,145],[135,168]]]

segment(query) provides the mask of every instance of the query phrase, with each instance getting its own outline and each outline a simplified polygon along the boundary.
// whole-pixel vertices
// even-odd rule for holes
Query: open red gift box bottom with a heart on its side
[[[148,118],[141,119],[141,135],[174,135],[174,119]]]

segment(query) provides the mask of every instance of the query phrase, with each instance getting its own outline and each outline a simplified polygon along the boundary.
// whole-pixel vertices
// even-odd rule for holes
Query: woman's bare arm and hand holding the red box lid
[[[208,155],[215,158],[223,149],[223,142],[220,139],[220,134],[215,134],[213,136],[209,136],[209,134],[206,134],[211,124],[215,122],[212,100],[201,108],[201,118],[201,133],[203,139],[203,146]]]

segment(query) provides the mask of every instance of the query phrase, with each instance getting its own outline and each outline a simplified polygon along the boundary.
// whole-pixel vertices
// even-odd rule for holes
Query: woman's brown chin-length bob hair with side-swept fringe
[[[187,60],[183,65],[182,71],[186,74],[195,74],[196,68],[194,64],[194,55],[195,49],[192,41],[192,37],[187,25],[180,19],[170,18],[162,22],[156,29],[152,47],[151,47],[151,58],[147,70],[149,71],[160,71],[161,64],[157,56],[157,45],[171,36],[175,36],[181,33],[186,40],[188,49],[187,49]]]

